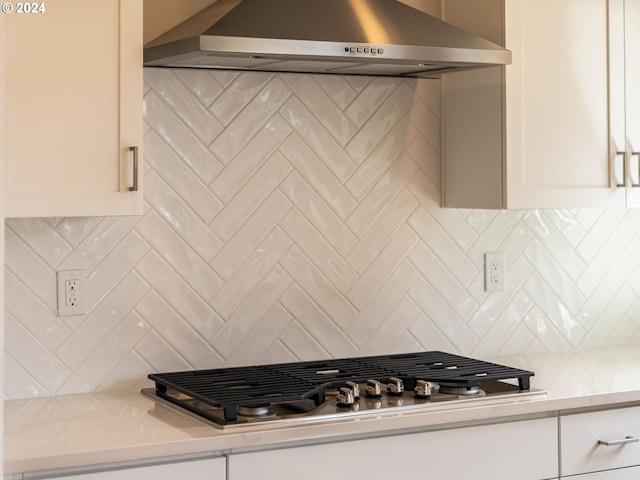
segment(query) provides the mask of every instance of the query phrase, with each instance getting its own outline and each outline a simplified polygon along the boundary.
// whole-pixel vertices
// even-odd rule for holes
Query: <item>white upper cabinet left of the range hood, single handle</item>
[[[142,213],[142,0],[12,5],[6,216]]]

